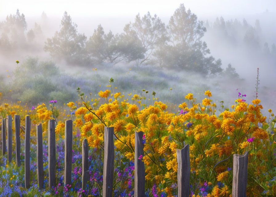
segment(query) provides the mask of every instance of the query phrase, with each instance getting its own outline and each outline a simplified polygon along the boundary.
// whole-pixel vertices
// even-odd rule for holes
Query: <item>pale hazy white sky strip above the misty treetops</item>
[[[16,9],[26,16],[62,16],[66,10],[74,16],[135,16],[138,12],[171,16],[184,3],[199,17],[235,16],[276,11],[276,0],[0,0],[0,18],[14,14]]]

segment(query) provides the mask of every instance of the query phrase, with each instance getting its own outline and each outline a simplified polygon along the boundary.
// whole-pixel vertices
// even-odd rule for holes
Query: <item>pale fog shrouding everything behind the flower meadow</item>
[[[28,3],[37,8],[30,9]],[[89,9],[82,1],[77,6],[58,1],[54,7],[52,2],[41,7],[32,1],[26,1],[24,5],[3,1],[0,4],[0,92],[3,92],[3,98],[22,100],[30,105],[57,98],[68,102],[78,98],[77,87],[94,96],[99,90],[106,89],[112,77],[117,91],[125,95],[130,92],[142,95],[142,89],[146,89],[149,91],[147,98],[152,98],[150,93],[155,91],[161,101],[172,103],[171,111],[177,111],[187,93],[193,93],[200,102],[205,90],[212,92],[218,108],[222,100],[227,108],[234,104],[238,92],[247,95],[248,103],[256,98],[259,68],[258,98],[262,100],[263,113],[268,115],[269,108],[276,110],[276,3],[185,1],[185,13],[190,9],[191,14],[197,15],[197,24],[203,22],[202,35],[194,33],[193,40],[186,40],[188,44],[185,46],[183,39],[176,36],[178,33],[173,32],[172,25],[169,26],[170,17],[181,8],[180,3],[183,2],[172,1],[170,5],[152,2],[143,6],[143,2],[136,5],[124,1],[117,4],[103,2]],[[47,41],[49,38],[54,42],[55,32],[60,32],[63,27],[61,20],[65,10],[71,22],[77,25],[75,36],[83,39],[74,52],[67,51],[69,55],[64,49],[71,45],[60,45],[62,52],[53,51]],[[148,11],[148,19],[156,14],[160,19],[158,24],[164,24],[164,30],[156,30],[156,35],[152,36],[160,41],[149,40],[150,44],[145,46],[139,37],[139,28],[137,30],[134,24],[138,13],[142,19]],[[22,27],[22,17],[26,28]],[[100,34],[99,24],[103,34]],[[129,30],[124,29],[127,24]],[[135,34],[133,30],[136,30]],[[108,37],[109,31],[112,36]],[[113,42],[116,45],[112,45]],[[117,47],[115,50],[114,46]],[[208,49],[210,53],[206,52]],[[183,51],[188,51],[189,55]],[[104,56],[108,52],[110,54]],[[113,62],[116,54],[118,58]],[[152,101],[147,102],[151,104]]]

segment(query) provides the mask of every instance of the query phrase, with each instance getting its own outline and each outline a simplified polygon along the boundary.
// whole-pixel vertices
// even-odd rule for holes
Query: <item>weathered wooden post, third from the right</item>
[[[145,164],[142,161],[144,156],[143,135],[142,131],[135,132],[134,197],[145,196]]]

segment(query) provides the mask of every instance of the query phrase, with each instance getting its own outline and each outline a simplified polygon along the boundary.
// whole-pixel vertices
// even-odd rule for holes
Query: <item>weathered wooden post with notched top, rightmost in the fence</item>
[[[233,197],[246,197],[248,151],[243,155],[234,154],[233,159]]]

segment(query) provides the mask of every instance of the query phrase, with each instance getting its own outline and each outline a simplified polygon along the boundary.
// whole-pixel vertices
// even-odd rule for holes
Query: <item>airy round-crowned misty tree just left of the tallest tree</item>
[[[142,18],[136,15],[135,22],[124,27],[124,36],[137,36],[144,48],[143,58],[139,58],[139,63],[153,63],[153,56],[156,48],[164,45],[168,40],[165,24],[155,14],[153,17],[148,12]],[[138,48],[141,48],[138,46]],[[150,62],[151,61],[151,62]]]

